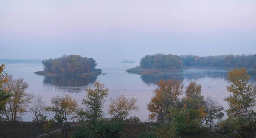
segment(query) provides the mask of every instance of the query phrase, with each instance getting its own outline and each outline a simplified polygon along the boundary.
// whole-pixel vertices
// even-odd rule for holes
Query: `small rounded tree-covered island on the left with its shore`
[[[44,71],[35,72],[37,75],[47,76],[79,76],[95,77],[101,74],[101,69],[96,69],[96,61],[93,58],[81,55],[63,55],[61,58],[42,61]]]

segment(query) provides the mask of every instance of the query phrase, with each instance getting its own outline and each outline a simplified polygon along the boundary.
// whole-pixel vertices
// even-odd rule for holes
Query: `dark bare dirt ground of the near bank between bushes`
[[[36,138],[45,134],[43,129],[44,123],[37,122],[0,122],[0,138]],[[157,123],[126,123],[124,131],[120,132],[121,138],[137,138],[138,135],[150,130],[151,126],[157,126]],[[55,123],[53,131],[60,129],[61,124]],[[70,138],[75,133],[75,128],[68,132]],[[61,131],[41,138],[63,138]],[[200,131],[195,134],[183,135],[181,138],[225,138],[224,136],[215,134],[214,132]]]

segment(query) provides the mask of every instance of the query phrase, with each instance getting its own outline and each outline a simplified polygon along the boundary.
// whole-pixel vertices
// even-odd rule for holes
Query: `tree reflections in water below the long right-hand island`
[[[183,81],[184,79],[187,80],[194,80],[200,78],[221,78],[227,80],[227,72],[218,72],[218,73],[190,73],[190,74],[178,74],[178,75],[165,75],[165,76],[148,76],[148,75],[140,75],[142,81],[146,84],[156,84],[161,79],[163,80],[180,80]]]

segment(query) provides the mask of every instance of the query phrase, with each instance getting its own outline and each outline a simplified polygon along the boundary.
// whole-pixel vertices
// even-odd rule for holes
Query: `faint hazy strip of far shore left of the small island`
[[[13,64],[13,63],[41,63],[40,59],[0,59],[1,64]]]

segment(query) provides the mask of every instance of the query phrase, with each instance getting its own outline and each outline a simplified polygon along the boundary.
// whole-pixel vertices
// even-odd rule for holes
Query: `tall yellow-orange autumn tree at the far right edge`
[[[224,100],[228,102],[227,120],[221,126],[227,129],[227,133],[235,137],[255,137],[256,128],[256,101],[252,84],[249,84],[250,76],[247,75],[245,68],[233,69],[228,73],[231,85],[227,86],[227,91],[232,95]],[[231,126],[233,124],[234,128]],[[234,131],[233,129],[236,129]],[[253,136],[254,135],[254,136]]]

